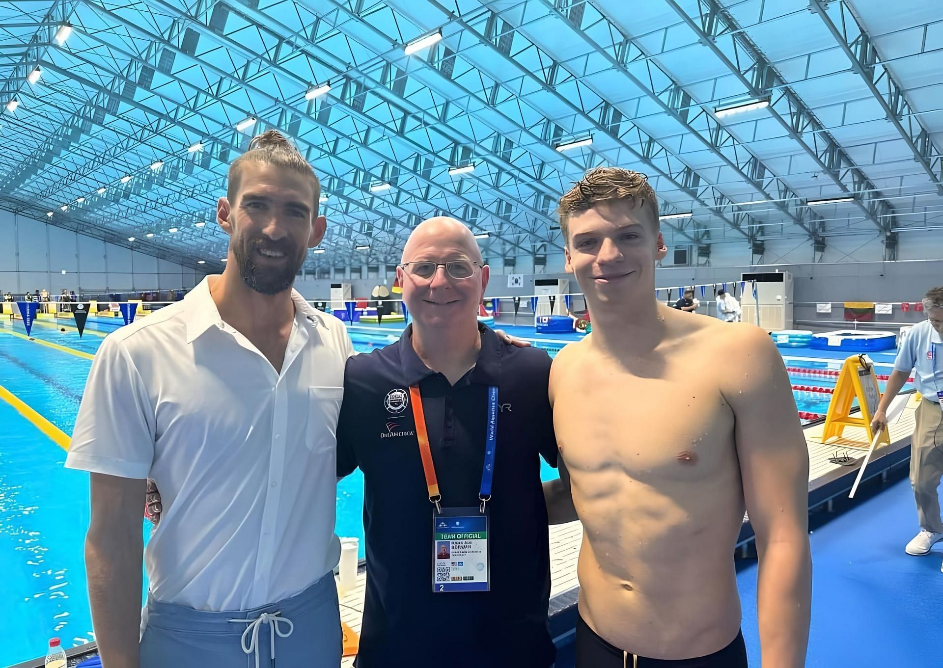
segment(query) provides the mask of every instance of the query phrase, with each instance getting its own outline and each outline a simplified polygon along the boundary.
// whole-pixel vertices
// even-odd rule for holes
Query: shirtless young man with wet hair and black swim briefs
[[[783,360],[753,325],[655,301],[661,235],[644,175],[587,172],[561,198],[560,226],[593,322],[550,378],[562,480],[548,508],[584,528],[577,667],[746,666],[734,568],[746,509],[763,666],[799,668],[808,456]]]

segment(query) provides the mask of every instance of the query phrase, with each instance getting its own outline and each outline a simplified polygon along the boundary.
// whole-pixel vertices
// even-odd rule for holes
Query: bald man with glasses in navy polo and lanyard
[[[337,433],[338,475],[364,476],[356,665],[547,668],[550,358],[478,323],[488,266],[457,220],[419,225],[397,277],[413,322],[348,361]]]

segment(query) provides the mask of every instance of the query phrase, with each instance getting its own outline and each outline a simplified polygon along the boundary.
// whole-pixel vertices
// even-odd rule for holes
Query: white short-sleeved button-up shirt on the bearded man
[[[66,466],[154,479],[150,595],[238,611],[298,594],[339,561],[335,433],[354,350],[339,319],[292,291],[278,373],[223,322],[208,281],[106,337]]]

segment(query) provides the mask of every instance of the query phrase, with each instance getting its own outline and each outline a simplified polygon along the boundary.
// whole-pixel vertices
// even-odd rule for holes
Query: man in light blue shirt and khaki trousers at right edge
[[[937,488],[943,478],[943,286],[934,287],[923,300],[927,319],[910,330],[898,350],[894,371],[887,381],[872,427],[886,427],[887,406],[901,391],[911,371],[922,396],[917,407],[917,426],[911,440],[910,484],[917,501],[920,532],[904,548],[907,554],[929,554],[943,540]]]

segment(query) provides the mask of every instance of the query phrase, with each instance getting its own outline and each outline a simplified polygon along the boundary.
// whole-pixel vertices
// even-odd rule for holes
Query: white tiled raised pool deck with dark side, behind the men
[[[915,427],[917,400],[911,394],[901,415],[888,426],[890,445],[877,448],[868,466],[865,480],[885,476],[891,466],[902,464],[910,456],[910,439]],[[831,499],[845,495],[852,487],[868,447],[863,428],[846,427],[841,439],[822,443],[823,422],[803,428],[805,444],[809,451],[809,511],[829,503]],[[835,455],[855,460],[843,466],[829,461]],[[551,602],[550,627],[554,643],[569,644],[575,625],[576,599],[579,583],[576,579],[576,561],[583,542],[583,530],[579,522],[550,527]],[[743,519],[743,527],[737,539],[737,547],[746,549],[753,542],[753,529],[749,516]],[[364,594],[367,572],[361,563],[357,573],[356,587],[340,591],[340,619],[359,632],[363,616]],[[94,644],[82,645],[69,650],[69,665],[94,656]],[[349,668],[354,658],[344,658],[340,665]],[[25,661],[11,668],[41,668],[42,660]]]

